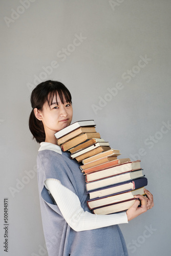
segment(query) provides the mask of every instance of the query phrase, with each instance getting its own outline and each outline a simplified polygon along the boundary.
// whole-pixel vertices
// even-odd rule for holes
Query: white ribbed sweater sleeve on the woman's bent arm
[[[79,198],[57,179],[47,179],[45,185],[58,205],[63,218],[75,231],[91,230],[128,223],[126,212],[112,215],[95,215],[84,211]]]

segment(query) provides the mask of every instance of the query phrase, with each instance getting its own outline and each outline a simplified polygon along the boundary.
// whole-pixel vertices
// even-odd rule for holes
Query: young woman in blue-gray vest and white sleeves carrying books
[[[94,215],[79,164],[56,144],[54,134],[72,121],[69,90],[58,81],[38,84],[31,94],[29,119],[33,138],[40,143],[37,156],[42,224],[49,256],[125,256],[124,238],[117,224],[127,223],[153,207],[153,195],[139,200],[126,212]]]

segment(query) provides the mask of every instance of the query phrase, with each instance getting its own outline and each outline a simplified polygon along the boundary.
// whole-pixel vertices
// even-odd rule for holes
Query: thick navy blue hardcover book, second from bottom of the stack
[[[88,191],[90,199],[106,197],[110,195],[117,195],[127,191],[135,190],[147,185],[147,178],[141,177],[130,181],[117,183],[114,185],[101,187],[95,190]]]

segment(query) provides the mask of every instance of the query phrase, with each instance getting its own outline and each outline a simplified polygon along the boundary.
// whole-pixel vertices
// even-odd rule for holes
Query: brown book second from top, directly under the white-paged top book
[[[74,137],[82,134],[82,133],[96,133],[96,129],[94,126],[84,126],[84,127],[79,127],[78,129],[68,133],[65,136],[62,136],[57,140],[57,144],[60,146],[62,143],[67,142],[68,140],[73,139]],[[81,143],[81,142],[80,142]]]

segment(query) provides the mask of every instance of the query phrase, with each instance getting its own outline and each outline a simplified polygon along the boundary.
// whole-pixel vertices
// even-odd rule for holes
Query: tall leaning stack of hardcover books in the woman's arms
[[[90,195],[88,207],[94,214],[113,214],[129,209],[144,195],[147,179],[140,160],[118,159],[120,150],[96,132],[94,120],[75,122],[55,133],[62,151],[69,151],[72,159],[82,162],[81,172],[86,176],[86,190]]]

